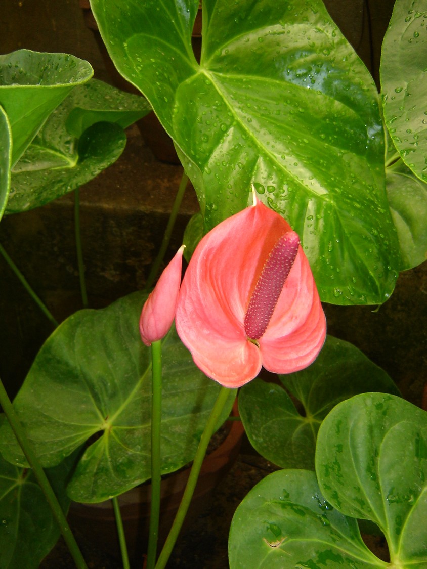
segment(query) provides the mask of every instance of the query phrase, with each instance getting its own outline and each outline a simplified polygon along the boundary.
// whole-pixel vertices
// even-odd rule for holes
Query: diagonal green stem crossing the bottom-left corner
[[[55,496],[54,490],[52,490],[52,486],[44,473],[43,468],[41,467],[38,458],[35,455],[35,452],[32,450],[31,444],[25,434],[25,431],[20,424],[18,415],[15,413],[13,405],[9,399],[9,396],[6,393],[5,387],[3,386],[2,381],[0,380],[0,405],[3,407],[3,411],[7,419],[9,420],[10,426],[15,433],[16,438],[22,448],[22,451],[34,472],[34,476],[36,477],[40,488],[46,500],[52,510],[52,514],[54,515],[56,522],[58,522],[59,529],[61,534],[64,537],[64,541],[67,544],[69,552],[76,563],[77,569],[87,569],[87,565],[85,560],[83,559],[83,555],[81,555],[79,546],[76,543],[76,540],[71,533],[71,529],[68,525],[67,519],[65,518],[64,512],[58,502],[58,498]]]

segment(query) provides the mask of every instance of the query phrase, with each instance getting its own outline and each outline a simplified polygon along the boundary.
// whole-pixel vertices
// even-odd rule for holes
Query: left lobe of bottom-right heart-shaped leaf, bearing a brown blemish
[[[387,567],[369,551],[358,523],[322,496],[314,472],[283,470],[261,480],[231,524],[230,569]]]

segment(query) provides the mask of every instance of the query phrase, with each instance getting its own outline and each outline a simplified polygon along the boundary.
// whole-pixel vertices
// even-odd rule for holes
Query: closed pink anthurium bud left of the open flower
[[[146,346],[165,337],[174,321],[184,247],[185,245],[182,245],[178,249],[142,308],[139,332]]]

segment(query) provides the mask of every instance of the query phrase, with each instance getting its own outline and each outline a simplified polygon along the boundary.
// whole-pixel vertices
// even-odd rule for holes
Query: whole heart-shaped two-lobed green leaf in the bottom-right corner
[[[427,413],[365,393],[323,420],[316,474],[274,472],[244,498],[229,536],[231,569],[427,566]],[[360,537],[356,518],[387,538],[391,563]]]

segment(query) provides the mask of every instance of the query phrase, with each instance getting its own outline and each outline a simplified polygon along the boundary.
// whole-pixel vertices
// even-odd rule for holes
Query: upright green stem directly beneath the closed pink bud
[[[151,509],[146,569],[154,569],[160,518],[162,343],[151,344]]]

